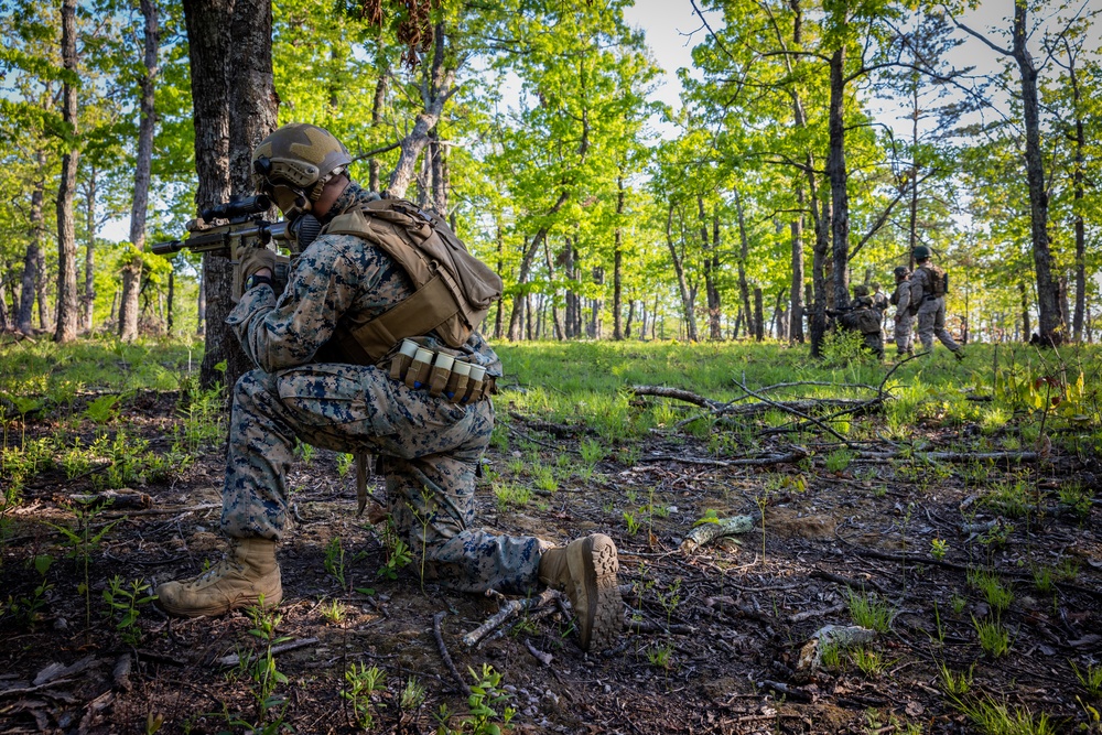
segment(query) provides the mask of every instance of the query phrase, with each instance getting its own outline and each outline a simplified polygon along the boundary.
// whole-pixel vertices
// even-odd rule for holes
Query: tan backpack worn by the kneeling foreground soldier
[[[335,217],[322,234],[356,235],[382,248],[417,289],[372,320],[337,327],[341,350],[364,365],[375,365],[403,338],[429,332],[458,348],[501,296],[500,277],[467,252],[443,219],[412,202],[369,202]]]

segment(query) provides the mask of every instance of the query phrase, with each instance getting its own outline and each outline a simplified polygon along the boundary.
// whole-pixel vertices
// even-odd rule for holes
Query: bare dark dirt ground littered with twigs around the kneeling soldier
[[[152,397],[128,420],[151,446],[168,447],[173,407],[172,394]],[[584,428],[572,436],[562,426],[510,419],[507,409],[499,406],[511,424],[509,448],[487,455],[483,525],[558,542],[611,534],[626,603],[618,647],[581,651],[558,601],[465,645],[464,634],[508,601],[422,588],[415,563],[397,580],[380,576],[383,544],[356,517],[354,472],[342,476],[336,455],[317,452],[291,477],[298,523],[280,552],[277,634],[292,648],[274,656],[287,678],[274,696],[285,706],[269,710],[269,723],[281,715],[282,726],[274,722],[268,732],[359,732],[342,698],[345,672],[359,663],[385,674],[385,689],[370,696],[370,732],[379,733],[436,732],[441,705],[452,713],[453,732],[475,732],[463,687],[474,683],[468,669],[484,664],[501,674],[499,690],[509,699],[494,709],[516,710],[506,727],[515,733],[977,732],[950,705],[941,664],[972,670],[970,695],[986,694],[1008,712],[1046,713],[1055,731],[1096,726],[1084,705],[1102,705],[1070,666],[1085,671],[1102,662],[1102,472],[1091,458],[1055,450],[1039,463],[987,463],[983,478],[951,462],[931,468],[876,457],[829,472],[832,446],[809,444],[812,455],[802,462],[724,466],[737,457],[711,455],[693,437],[651,433],[617,447],[592,475],[571,475],[569,467],[581,465]],[[47,422],[29,426],[31,434],[48,430]],[[931,428],[927,439],[938,448],[971,431]],[[753,456],[791,451],[788,440],[763,439]],[[526,466],[533,452],[568,468],[557,489],[533,484]],[[259,649],[246,614],[174,620],[144,605],[140,640],[128,642],[102,597],[114,575],[155,585],[217,559],[220,454],[213,450],[169,483],[134,488],[149,496],[148,508],[108,507],[93,519],[94,531],[119,522],[89,547],[87,603],[80,560],[65,558],[72,544],[46,522],[74,525],[64,501],[89,491],[88,477],[69,482],[53,469],[30,483],[3,545],[0,598],[33,596],[43,577],[29,559],[56,561],[37,620],[18,626],[10,614],[3,618],[0,733],[247,732],[240,722],[258,722],[250,671],[219,660]],[[1026,484],[1024,516],[984,502],[985,488],[1002,478]],[[1092,491],[1078,512],[1057,501],[1071,482]],[[491,484],[501,483],[532,488],[531,499],[500,507]],[[382,491],[378,478],[374,490]],[[683,550],[709,510],[755,521],[746,533]],[[337,537],[344,587],[325,569]],[[940,559],[936,539],[944,542]],[[1041,592],[1034,582],[1040,568],[1067,574]],[[970,570],[995,572],[1012,590],[1005,612],[969,584]],[[353,592],[363,587],[374,594]],[[895,612],[890,630],[843,650],[832,664],[801,669],[801,649],[817,630],[852,625],[851,591],[885,601]],[[339,621],[326,618],[333,601],[343,606]],[[995,618],[1009,633],[1009,651],[1000,658],[981,649],[976,633],[976,624]],[[410,680],[425,690],[420,703],[402,702]]]

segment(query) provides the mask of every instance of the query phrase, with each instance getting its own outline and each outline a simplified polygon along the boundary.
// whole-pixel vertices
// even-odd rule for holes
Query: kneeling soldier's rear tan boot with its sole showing
[[[624,603],[616,587],[616,544],[594,533],[540,555],[540,582],[570,597],[583,650],[612,648],[624,626]]]

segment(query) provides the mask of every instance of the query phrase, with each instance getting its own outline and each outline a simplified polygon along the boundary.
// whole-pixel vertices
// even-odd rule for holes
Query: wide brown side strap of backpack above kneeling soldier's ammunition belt
[[[364,324],[338,325],[334,339],[359,365],[375,365],[404,337],[429,334],[460,311],[440,272],[406,301]]]

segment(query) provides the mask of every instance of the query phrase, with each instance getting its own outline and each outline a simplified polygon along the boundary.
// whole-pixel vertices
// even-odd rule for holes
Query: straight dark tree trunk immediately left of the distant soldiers
[[[827,173],[831,190],[831,245],[834,266],[834,307],[850,304],[850,195],[845,171],[845,46],[830,60],[830,156]]]

